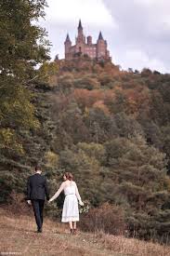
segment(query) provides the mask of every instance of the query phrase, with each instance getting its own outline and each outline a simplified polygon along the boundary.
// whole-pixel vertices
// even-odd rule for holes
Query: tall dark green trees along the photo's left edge
[[[42,120],[33,84],[40,76],[37,64],[49,59],[46,31],[35,24],[45,7],[45,0],[0,1],[1,202],[10,200],[12,189],[23,192],[30,166],[45,151],[37,138]]]

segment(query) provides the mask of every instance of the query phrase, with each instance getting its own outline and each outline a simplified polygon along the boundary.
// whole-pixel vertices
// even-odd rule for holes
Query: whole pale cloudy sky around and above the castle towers
[[[79,19],[84,34],[99,31],[108,42],[112,62],[122,69],[150,68],[170,73],[170,0],[46,0],[46,20],[51,58],[64,58],[64,41],[75,43]]]

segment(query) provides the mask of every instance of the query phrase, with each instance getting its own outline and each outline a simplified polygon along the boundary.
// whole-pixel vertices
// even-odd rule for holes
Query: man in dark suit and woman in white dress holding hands
[[[61,222],[69,222],[71,234],[76,234],[76,222],[79,222],[78,202],[81,206],[84,206],[84,203],[82,202],[76,183],[72,180],[72,173],[66,172],[63,175],[63,180],[64,182],[61,183],[59,190],[49,199],[46,177],[42,175],[41,168],[36,167],[35,173],[28,178],[27,202],[33,206],[37,233],[42,232],[45,198],[50,203],[64,191],[65,199]]]

